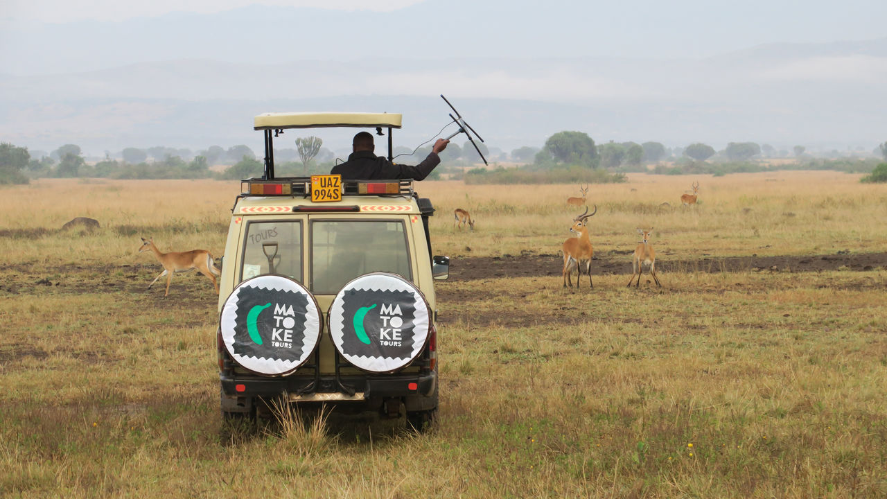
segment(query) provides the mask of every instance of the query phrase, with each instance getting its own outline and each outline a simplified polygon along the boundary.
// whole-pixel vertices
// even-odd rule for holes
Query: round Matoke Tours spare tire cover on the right
[[[357,368],[388,373],[425,347],[430,310],[422,292],[395,273],[367,273],[342,288],[330,306],[330,337]]]

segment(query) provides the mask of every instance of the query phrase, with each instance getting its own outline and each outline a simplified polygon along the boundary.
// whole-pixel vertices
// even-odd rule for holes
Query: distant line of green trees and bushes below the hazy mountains
[[[275,149],[275,169],[280,176],[299,176],[327,173],[333,167],[335,154],[322,147],[317,137],[295,140],[294,148]],[[754,142],[730,142],[722,151],[716,151],[703,143],[687,147],[665,147],[660,142],[615,142],[597,145],[586,133],[560,131],[546,139],[544,147],[518,147],[506,154],[501,149],[478,143],[481,154],[489,161],[508,159],[523,163],[517,169],[502,167],[493,170],[475,169],[465,175],[469,182],[540,183],[540,182],[618,182],[624,181],[624,173],[644,171],[660,174],[710,173],[714,175],[743,171],[762,171],[771,167],[752,163],[757,157],[784,157],[786,151],[776,151],[765,144]],[[418,162],[431,150],[430,146],[411,150],[396,147],[396,162]],[[875,152],[887,160],[887,142]],[[880,180],[875,162],[849,160],[822,160],[805,156],[805,147],[793,148],[796,163],[782,165],[781,169],[797,170],[845,170],[871,172],[866,181]],[[66,144],[50,154],[35,154],[27,147],[0,144],[0,183],[22,184],[29,178],[219,178],[239,179],[260,176],[263,162],[245,145],[208,147],[193,154],[189,149],[172,147],[127,147],[118,154],[110,154],[98,162],[86,162],[82,150],[74,144]],[[443,171],[457,171],[451,167],[475,165],[481,157],[468,141],[462,146],[451,143],[441,154],[446,166],[432,172],[430,178],[439,178]],[[152,161],[148,159],[152,158]],[[711,158],[717,162],[709,163]],[[418,159],[416,159],[418,158]],[[660,162],[672,160],[672,165]],[[228,165],[224,170],[211,170],[214,165]],[[649,164],[655,164],[651,170]],[[887,170],[887,166],[883,168]],[[883,173],[887,177],[887,171]],[[457,177],[461,177],[458,170]]]

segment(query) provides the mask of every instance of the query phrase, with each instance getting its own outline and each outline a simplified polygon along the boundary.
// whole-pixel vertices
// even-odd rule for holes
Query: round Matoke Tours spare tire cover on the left
[[[264,376],[293,372],[309,359],[321,330],[318,302],[287,276],[266,274],[240,282],[225,299],[219,326],[228,353]]]

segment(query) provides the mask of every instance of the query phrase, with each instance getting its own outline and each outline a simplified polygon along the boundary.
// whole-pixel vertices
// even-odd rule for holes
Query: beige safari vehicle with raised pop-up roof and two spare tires
[[[417,430],[438,405],[434,208],[412,180],[276,178],[273,139],[286,129],[391,131],[401,115],[271,113],[262,178],[241,181],[219,281],[218,366],[224,417],[273,400],[406,416]]]

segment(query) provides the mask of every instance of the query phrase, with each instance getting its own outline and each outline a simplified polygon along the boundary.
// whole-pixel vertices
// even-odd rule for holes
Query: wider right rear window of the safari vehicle
[[[334,295],[348,281],[371,272],[397,273],[412,281],[403,222],[311,222],[311,291]]]

